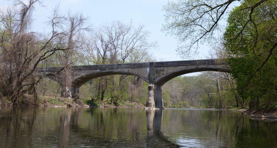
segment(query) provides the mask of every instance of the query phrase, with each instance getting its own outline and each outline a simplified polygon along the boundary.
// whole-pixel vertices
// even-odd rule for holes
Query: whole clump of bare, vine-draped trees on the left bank
[[[17,1],[13,6],[1,10],[0,90],[14,105],[24,101],[21,96],[25,94],[37,96],[36,89],[43,79],[42,76],[37,76],[38,67],[62,65],[66,67],[63,71],[68,71],[73,63],[77,64],[73,58],[80,57],[76,49],[83,42],[76,34],[89,30],[86,26],[87,18],[83,18],[82,14],[73,16],[68,13],[68,16],[64,16],[57,14],[56,7],[53,9],[53,17],[49,18],[50,28],[46,29],[50,29],[50,32],[33,32],[30,30],[31,16],[38,3],[40,1]],[[74,54],[72,58],[69,57],[71,54]],[[69,72],[61,73],[64,76],[58,77],[69,81],[62,80],[60,84],[70,87],[71,78],[67,76]],[[65,90],[65,87],[62,89]]]

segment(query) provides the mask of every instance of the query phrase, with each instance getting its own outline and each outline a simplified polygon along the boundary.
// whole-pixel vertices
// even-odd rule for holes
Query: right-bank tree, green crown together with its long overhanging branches
[[[199,43],[223,43],[241,97],[277,101],[276,0],[179,0],[168,3],[164,10],[163,31],[183,43],[176,49],[180,56],[197,53]],[[227,16],[225,28],[221,22]]]

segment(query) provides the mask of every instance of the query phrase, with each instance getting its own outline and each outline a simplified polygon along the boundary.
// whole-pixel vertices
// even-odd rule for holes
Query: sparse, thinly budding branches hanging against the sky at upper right
[[[176,49],[183,58],[197,54],[199,42],[211,42],[224,26],[222,19],[232,4],[240,0],[178,0],[164,6],[166,11],[162,31],[176,35]],[[195,49],[195,50],[193,50]]]

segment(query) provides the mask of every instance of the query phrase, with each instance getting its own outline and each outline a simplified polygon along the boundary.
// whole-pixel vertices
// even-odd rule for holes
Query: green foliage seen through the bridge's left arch
[[[120,80],[121,78],[122,75],[106,76],[106,89],[104,92],[106,103],[119,106],[123,103],[122,101],[145,104],[148,97],[149,84],[135,76],[126,76],[123,80]],[[80,87],[80,97],[92,97],[94,102],[98,101],[97,91],[99,84],[103,82],[99,78],[88,81]]]

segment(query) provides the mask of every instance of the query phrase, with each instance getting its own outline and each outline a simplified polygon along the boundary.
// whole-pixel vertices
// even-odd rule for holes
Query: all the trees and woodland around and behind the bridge
[[[157,61],[151,50],[157,50],[158,43],[148,41],[150,32],[144,25],[114,21],[94,27],[83,13],[60,13],[57,6],[49,14],[48,28],[33,32],[33,10],[44,8],[43,1],[13,2],[13,6],[0,9],[2,104],[26,104],[26,97],[31,96],[30,105],[36,106],[42,102],[41,94],[66,97],[75,65]],[[180,56],[194,53],[200,40],[209,41],[213,46],[206,58],[227,58],[232,68],[231,74],[202,72],[172,79],[163,85],[165,107],[246,108],[253,99],[258,106],[276,104],[276,1],[245,0],[231,10],[233,2],[179,0],[164,6],[162,30],[176,35],[180,42],[191,41],[176,49]],[[205,11],[196,11],[202,9]],[[219,24],[223,15],[227,15],[226,26]],[[205,24],[205,20],[211,23]],[[192,26],[200,28],[193,30]],[[224,30],[223,35],[216,38],[213,33],[219,30]],[[63,67],[55,75],[61,81],[37,76],[39,67]],[[112,75],[88,81],[80,88],[79,97],[86,102],[145,105],[147,92],[148,83],[138,77]]]

